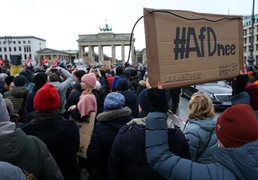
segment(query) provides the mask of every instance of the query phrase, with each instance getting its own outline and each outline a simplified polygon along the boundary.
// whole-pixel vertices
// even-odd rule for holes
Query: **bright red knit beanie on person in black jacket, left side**
[[[58,110],[60,107],[60,97],[56,87],[52,84],[44,84],[37,91],[34,98],[35,110]]]

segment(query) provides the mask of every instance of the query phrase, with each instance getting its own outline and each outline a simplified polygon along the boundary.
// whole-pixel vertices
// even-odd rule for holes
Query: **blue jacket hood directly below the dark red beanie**
[[[214,161],[231,170],[238,179],[258,179],[258,141],[246,143],[238,148],[219,147]]]

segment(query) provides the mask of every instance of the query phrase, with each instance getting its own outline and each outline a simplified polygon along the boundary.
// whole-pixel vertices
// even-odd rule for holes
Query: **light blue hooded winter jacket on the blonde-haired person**
[[[215,134],[215,117],[207,117],[204,120],[189,120],[184,134],[188,139],[191,158],[195,162],[208,164],[211,161],[214,150],[218,148],[218,139]]]

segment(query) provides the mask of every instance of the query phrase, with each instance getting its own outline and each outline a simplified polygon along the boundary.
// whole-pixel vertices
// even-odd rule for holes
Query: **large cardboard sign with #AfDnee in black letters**
[[[151,86],[161,82],[171,89],[238,76],[241,16],[147,8],[144,14]]]

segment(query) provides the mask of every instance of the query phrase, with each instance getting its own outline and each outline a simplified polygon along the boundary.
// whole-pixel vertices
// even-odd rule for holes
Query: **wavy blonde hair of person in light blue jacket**
[[[189,102],[190,119],[203,120],[204,117],[214,117],[214,115],[214,106],[209,96],[199,92],[192,95]]]

